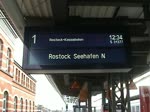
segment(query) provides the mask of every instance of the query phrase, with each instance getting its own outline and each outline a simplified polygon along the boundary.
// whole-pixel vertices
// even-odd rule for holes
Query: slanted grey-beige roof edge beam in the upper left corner
[[[16,33],[19,35],[21,40],[23,40],[25,22],[16,1],[1,0],[0,7]]]

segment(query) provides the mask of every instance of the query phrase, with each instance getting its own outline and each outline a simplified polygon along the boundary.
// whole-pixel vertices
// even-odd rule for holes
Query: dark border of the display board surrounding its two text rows
[[[55,64],[55,65],[47,65],[47,64],[32,64],[29,62],[30,59],[30,54],[32,50],[40,51],[40,50],[59,50],[62,48],[62,46],[51,46],[52,49],[40,46],[41,48],[36,48],[31,46],[31,35],[34,33],[41,33],[41,32],[46,32],[46,33],[54,33],[54,34],[122,34],[124,36],[123,38],[123,45],[119,46],[94,46],[94,43],[91,44],[91,46],[85,46],[84,49],[93,49],[93,50],[110,50],[110,49],[119,49],[122,48],[124,49],[124,54],[125,54],[125,60],[122,63],[77,63],[77,64]],[[41,36],[40,38],[43,39]],[[33,38],[32,38],[32,41]],[[86,43],[85,43],[86,44]],[[65,49],[82,49],[83,46],[64,46]],[[73,50],[71,50],[73,51]],[[118,52],[119,53],[119,52]],[[23,53],[23,69],[25,70],[81,70],[81,69],[127,69],[131,68],[131,63],[130,63],[130,36],[128,33],[128,28],[126,26],[105,26],[105,27],[26,27],[25,28],[25,37],[24,37],[24,53]],[[119,58],[119,57],[118,57]],[[37,60],[38,61],[38,60]],[[60,60],[61,61],[61,60]],[[80,61],[80,60],[77,60]],[[87,60],[88,61],[88,60]],[[61,63],[61,62],[60,62]],[[71,63],[71,62],[70,62]]]

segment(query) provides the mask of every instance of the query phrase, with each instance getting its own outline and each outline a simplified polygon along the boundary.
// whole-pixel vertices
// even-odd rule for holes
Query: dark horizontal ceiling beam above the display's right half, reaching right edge
[[[71,16],[68,19],[68,24],[72,25],[117,25],[127,23],[145,23],[150,21],[150,18],[140,19],[140,18],[128,18],[128,17],[117,17],[117,18],[82,18],[79,16]]]

